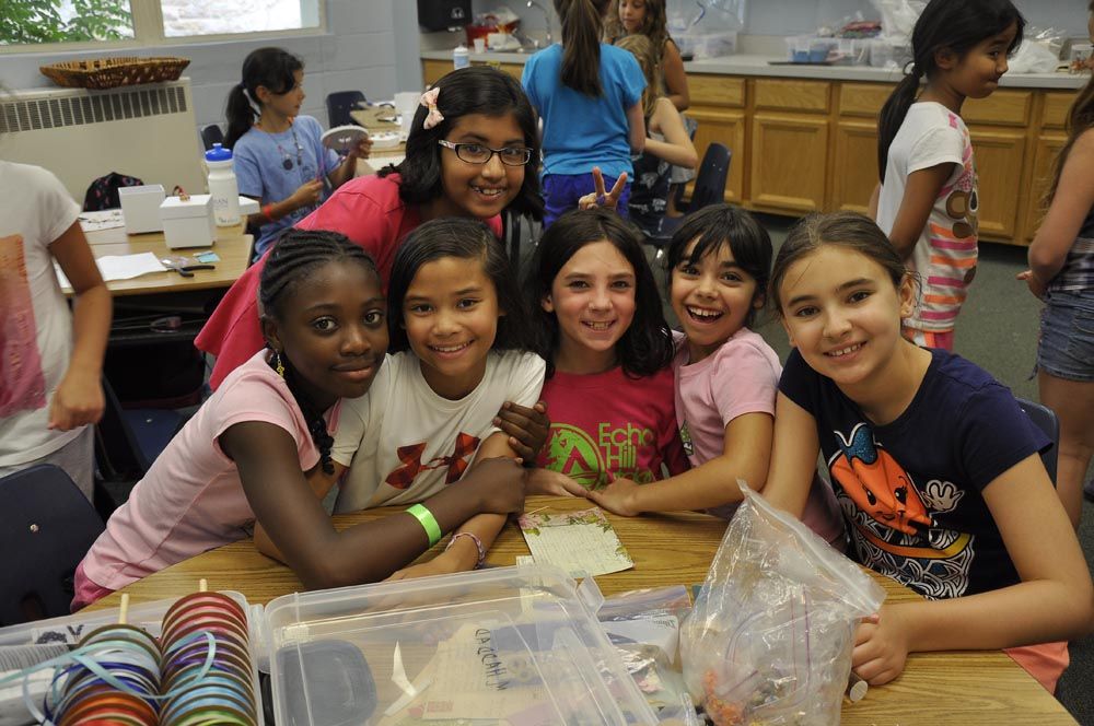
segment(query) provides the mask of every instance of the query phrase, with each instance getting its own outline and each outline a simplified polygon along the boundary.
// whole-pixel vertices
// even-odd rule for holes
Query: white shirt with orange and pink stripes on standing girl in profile
[[[977,191],[973,143],[961,116],[933,101],[913,103],[889,147],[885,182],[877,199],[877,226],[889,234],[912,172],[956,164],[934,200],[909,260],[921,293],[905,325],[948,331],[976,274]]]

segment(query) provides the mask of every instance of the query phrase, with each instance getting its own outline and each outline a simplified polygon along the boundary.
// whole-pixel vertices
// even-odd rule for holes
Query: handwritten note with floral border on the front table
[[[605,575],[635,566],[612,523],[596,507],[526,514],[520,524],[535,561],[561,567],[572,577]]]

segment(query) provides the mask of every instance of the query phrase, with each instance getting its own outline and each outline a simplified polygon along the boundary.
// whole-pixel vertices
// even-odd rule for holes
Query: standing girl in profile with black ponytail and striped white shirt
[[[921,281],[904,323],[920,346],[953,350],[976,272],[979,199],[961,107],[998,87],[1024,27],[1010,0],[931,0],[911,35],[911,70],[882,107],[871,215]]]

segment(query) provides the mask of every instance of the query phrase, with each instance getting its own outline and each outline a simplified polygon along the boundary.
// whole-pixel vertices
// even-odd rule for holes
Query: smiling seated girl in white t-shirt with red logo
[[[545,364],[528,352],[511,262],[482,222],[441,218],[410,233],[395,255],[387,304],[393,354],[369,397],[347,401],[339,421],[338,512],[421,501],[485,459],[515,458],[498,411],[507,401],[533,406],[543,387]],[[475,517],[444,555],[396,576],[469,569],[503,524]]]

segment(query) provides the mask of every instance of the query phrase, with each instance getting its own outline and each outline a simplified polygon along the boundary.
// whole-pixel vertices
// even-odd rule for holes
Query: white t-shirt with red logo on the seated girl
[[[330,456],[349,470],[335,511],[420,502],[458,481],[499,431],[501,405],[533,406],[545,371],[535,353],[491,351],[475,390],[450,400],[426,383],[417,355],[388,355],[369,394],[342,406]]]

